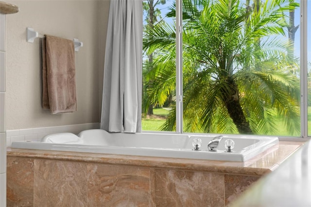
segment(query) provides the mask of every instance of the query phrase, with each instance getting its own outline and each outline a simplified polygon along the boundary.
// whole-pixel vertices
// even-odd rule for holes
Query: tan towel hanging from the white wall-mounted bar
[[[77,111],[74,43],[51,35],[42,39],[42,106],[51,114]]]

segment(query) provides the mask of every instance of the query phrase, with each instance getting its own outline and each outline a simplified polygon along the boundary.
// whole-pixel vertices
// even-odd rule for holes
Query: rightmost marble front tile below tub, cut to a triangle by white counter
[[[225,175],[225,205],[235,200],[243,191],[248,189],[259,177],[242,175]]]

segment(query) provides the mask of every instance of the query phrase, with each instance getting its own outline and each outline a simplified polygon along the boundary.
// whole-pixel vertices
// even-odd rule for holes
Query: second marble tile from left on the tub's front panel
[[[86,163],[35,159],[34,207],[85,207]]]

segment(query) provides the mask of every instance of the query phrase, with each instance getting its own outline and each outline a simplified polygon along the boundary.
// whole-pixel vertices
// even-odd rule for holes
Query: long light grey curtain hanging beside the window
[[[111,0],[101,129],[141,131],[142,0]]]

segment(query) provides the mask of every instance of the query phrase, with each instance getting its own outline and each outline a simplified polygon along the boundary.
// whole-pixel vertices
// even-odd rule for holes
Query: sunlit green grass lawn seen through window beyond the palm
[[[161,125],[166,121],[169,109],[165,108],[154,108],[154,115],[142,119],[142,130],[143,131],[159,131]],[[276,136],[286,136],[286,125],[282,121],[276,123],[278,128],[278,134]],[[311,136],[311,106],[308,107],[308,134]],[[294,135],[300,136],[300,135]]]

